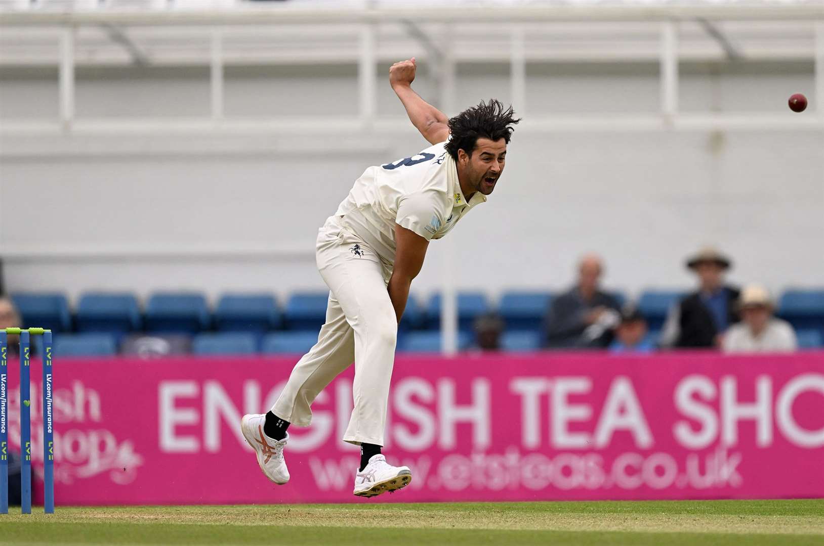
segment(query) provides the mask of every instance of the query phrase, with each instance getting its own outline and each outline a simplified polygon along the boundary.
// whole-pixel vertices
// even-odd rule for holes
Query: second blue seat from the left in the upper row
[[[140,307],[133,294],[88,292],[77,302],[78,332],[126,334],[138,331]]]

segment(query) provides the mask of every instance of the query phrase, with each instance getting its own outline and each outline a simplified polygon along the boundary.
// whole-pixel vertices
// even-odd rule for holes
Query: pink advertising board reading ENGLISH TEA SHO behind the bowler
[[[358,448],[339,441],[351,368],[312,426],[290,429],[287,485],[240,436],[295,361],[55,358],[58,505],[369,502],[351,493]],[[16,385],[12,373],[12,448]],[[414,478],[382,501],[824,497],[824,353],[403,356],[386,438]]]

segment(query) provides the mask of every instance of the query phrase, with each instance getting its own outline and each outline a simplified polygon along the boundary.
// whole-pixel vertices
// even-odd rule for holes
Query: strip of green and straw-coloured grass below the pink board
[[[824,499],[61,508],[0,544],[824,544]]]

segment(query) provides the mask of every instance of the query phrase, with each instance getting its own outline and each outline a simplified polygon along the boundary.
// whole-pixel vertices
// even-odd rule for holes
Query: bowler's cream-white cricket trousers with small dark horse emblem
[[[330,289],[326,322],[315,346],[295,365],[272,413],[309,426],[312,401],[354,361],[354,408],[344,441],[383,446],[398,331],[386,290],[391,269],[338,222],[330,217],[317,237],[317,267]]]

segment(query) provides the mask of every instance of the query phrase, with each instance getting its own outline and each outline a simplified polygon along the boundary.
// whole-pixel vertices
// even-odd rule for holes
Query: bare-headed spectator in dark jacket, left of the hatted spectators
[[[578,264],[578,283],[555,298],[546,328],[547,345],[552,348],[604,348],[611,330],[620,320],[618,301],[602,292],[598,281],[603,273],[601,258],[584,256]]]

